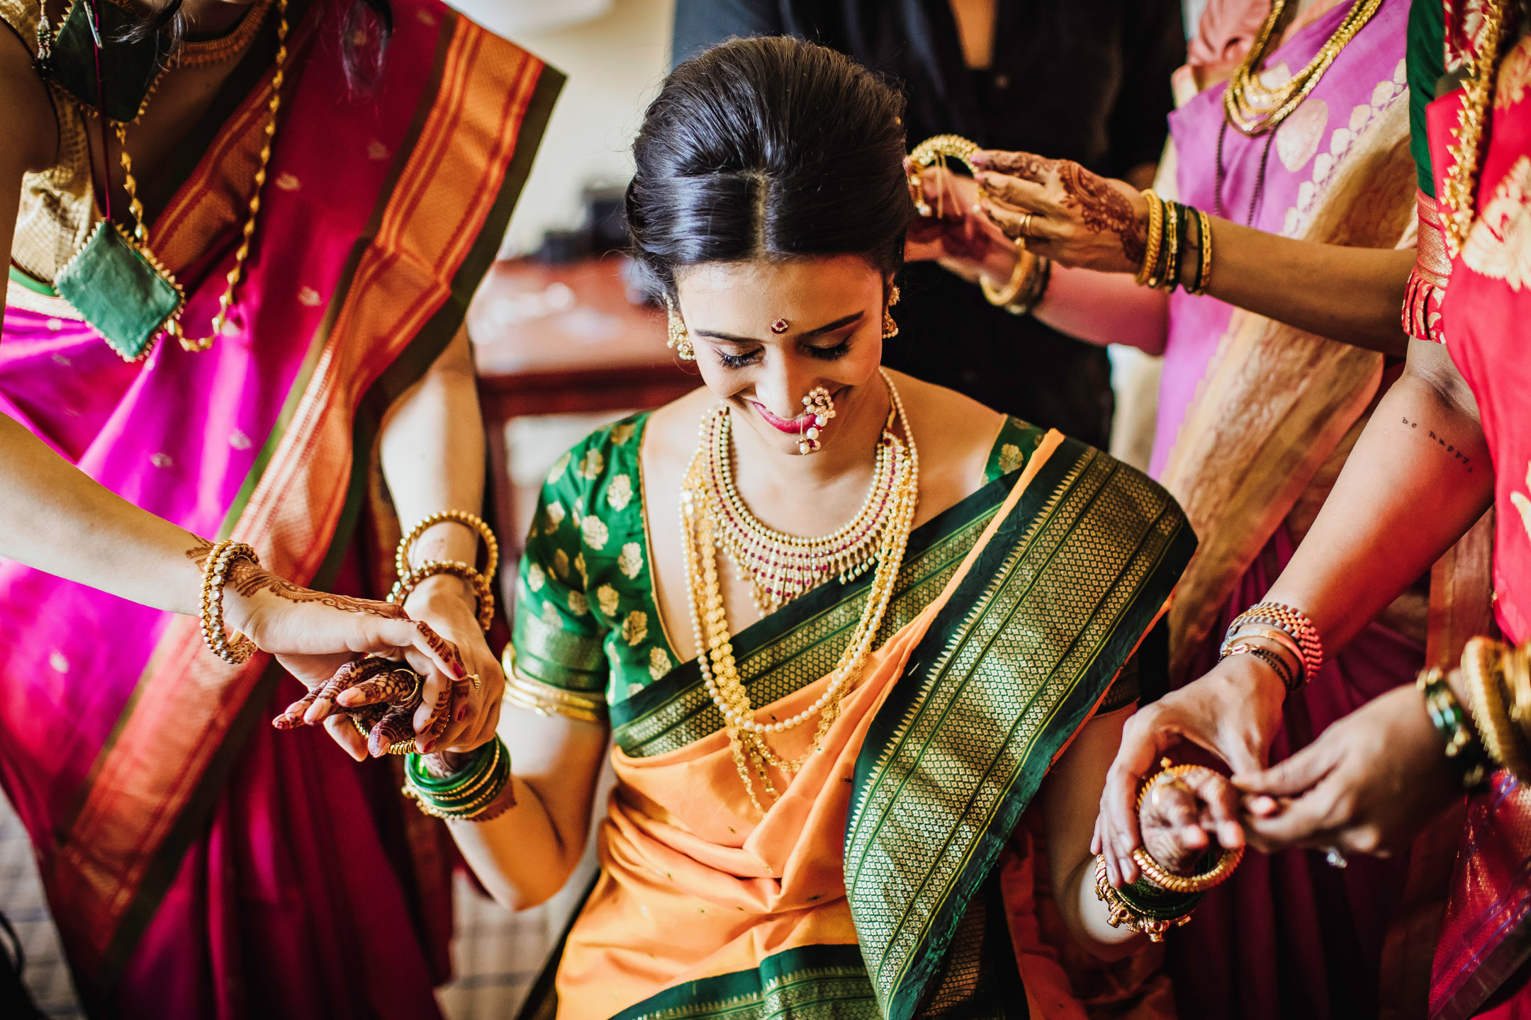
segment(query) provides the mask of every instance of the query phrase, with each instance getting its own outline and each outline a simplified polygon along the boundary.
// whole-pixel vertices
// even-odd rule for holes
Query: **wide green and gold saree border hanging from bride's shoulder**
[[[845,836],[890,1020],[920,1009],[1017,820],[1194,547],[1162,488],[1066,440],[911,653],[862,746]]]

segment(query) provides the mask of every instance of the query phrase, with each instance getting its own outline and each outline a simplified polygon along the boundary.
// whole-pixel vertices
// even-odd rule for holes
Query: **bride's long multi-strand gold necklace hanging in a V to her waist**
[[[712,697],[713,705],[723,713],[724,728],[729,734],[729,748],[733,751],[733,763],[739,778],[756,810],[766,814],[759,798],[755,795],[755,781],[750,771],[761,780],[761,788],[772,798],[778,797],[776,786],[770,778],[769,766],[784,772],[796,772],[804,762],[819,749],[830,725],[839,717],[841,702],[860,679],[862,667],[871,651],[871,641],[886,616],[893,601],[893,587],[903,566],[903,551],[909,541],[914,525],[914,512],[919,506],[920,492],[920,454],[914,443],[914,433],[909,431],[909,419],[903,411],[903,401],[888,373],[882,373],[888,384],[888,395],[893,402],[893,414],[902,422],[903,434],[908,439],[908,453],[900,456],[899,471],[893,483],[891,511],[886,526],[882,529],[877,543],[877,572],[873,577],[871,590],[867,595],[867,607],[862,610],[856,629],[851,632],[845,651],[841,653],[825,691],[814,699],[813,705],[804,711],[779,722],[762,722],[755,717],[755,707],[750,705],[749,691],[739,676],[738,662],[733,658],[733,645],[729,642],[727,612],[723,607],[723,589],[718,584],[718,521],[707,512],[707,480],[704,463],[712,445],[707,442],[707,427],[704,421],[703,442],[692,457],[690,468],[681,486],[681,537],[686,551],[686,598],[690,607],[692,635],[697,642],[697,665]],[[709,413],[710,417],[710,413]],[[899,439],[894,436],[894,442]],[[902,443],[899,443],[902,447]],[[766,742],[767,733],[784,733],[808,722],[814,713],[819,716],[819,728],[813,737],[813,746],[796,760],[778,755]]]

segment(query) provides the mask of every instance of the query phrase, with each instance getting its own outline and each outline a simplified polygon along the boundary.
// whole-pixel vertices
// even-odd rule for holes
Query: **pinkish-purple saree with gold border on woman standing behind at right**
[[[1338,3],[1292,32],[1265,73],[1280,81],[1307,64],[1350,8]],[[1229,220],[1286,237],[1410,243],[1407,15],[1407,0],[1384,0],[1274,136],[1223,130],[1223,87],[1176,110],[1170,130],[1180,200],[1222,206]],[[1150,471],[1203,541],[1171,607],[1173,685],[1216,664],[1231,618],[1260,601],[1286,566],[1382,379],[1381,355],[1209,297],[1171,297]],[[1288,699],[1271,759],[1412,679],[1422,651],[1370,627]],[[1170,939],[1180,1015],[1349,1020],[1378,1015],[1390,996],[1422,1002],[1422,980],[1412,991],[1384,982],[1405,875],[1407,861],[1356,861],[1340,872],[1301,850],[1249,855]]]

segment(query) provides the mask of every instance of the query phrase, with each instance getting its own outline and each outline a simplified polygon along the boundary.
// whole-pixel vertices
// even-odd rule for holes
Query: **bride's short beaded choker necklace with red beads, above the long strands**
[[[764,616],[831,577],[847,584],[877,557],[879,538],[891,517],[894,480],[905,459],[893,434],[893,408],[877,443],[871,488],[856,517],[821,538],[767,528],[744,506],[733,483],[729,407],[720,404],[701,422],[701,502],[741,581],[750,581],[755,609]]]

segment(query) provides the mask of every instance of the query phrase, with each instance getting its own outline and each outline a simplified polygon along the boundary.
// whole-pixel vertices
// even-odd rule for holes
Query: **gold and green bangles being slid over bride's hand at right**
[[[1144,795],[1157,795],[1160,786],[1190,791],[1182,775],[1211,771],[1203,765],[1171,765],[1168,759],[1159,765],[1162,771],[1144,780],[1138,789],[1139,810]],[[1133,850],[1133,862],[1142,875],[1130,885],[1116,888],[1105,872],[1105,855],[1101,853],[1095,858],[1095,898],[1112,911],[1108,921],[1113,928],[1125,925],[1130,931],[1147,934],[1150,942],[1164,942],[1165,933],[1191,921],[1191,911],[1202,902],[1206,890],[1232,876],[1240,859],[1243,847],[1209,849],[1197,862],[1200,870],[1196,875],[1176,875],[1159,864],[1148,850],[1138,847]]]

